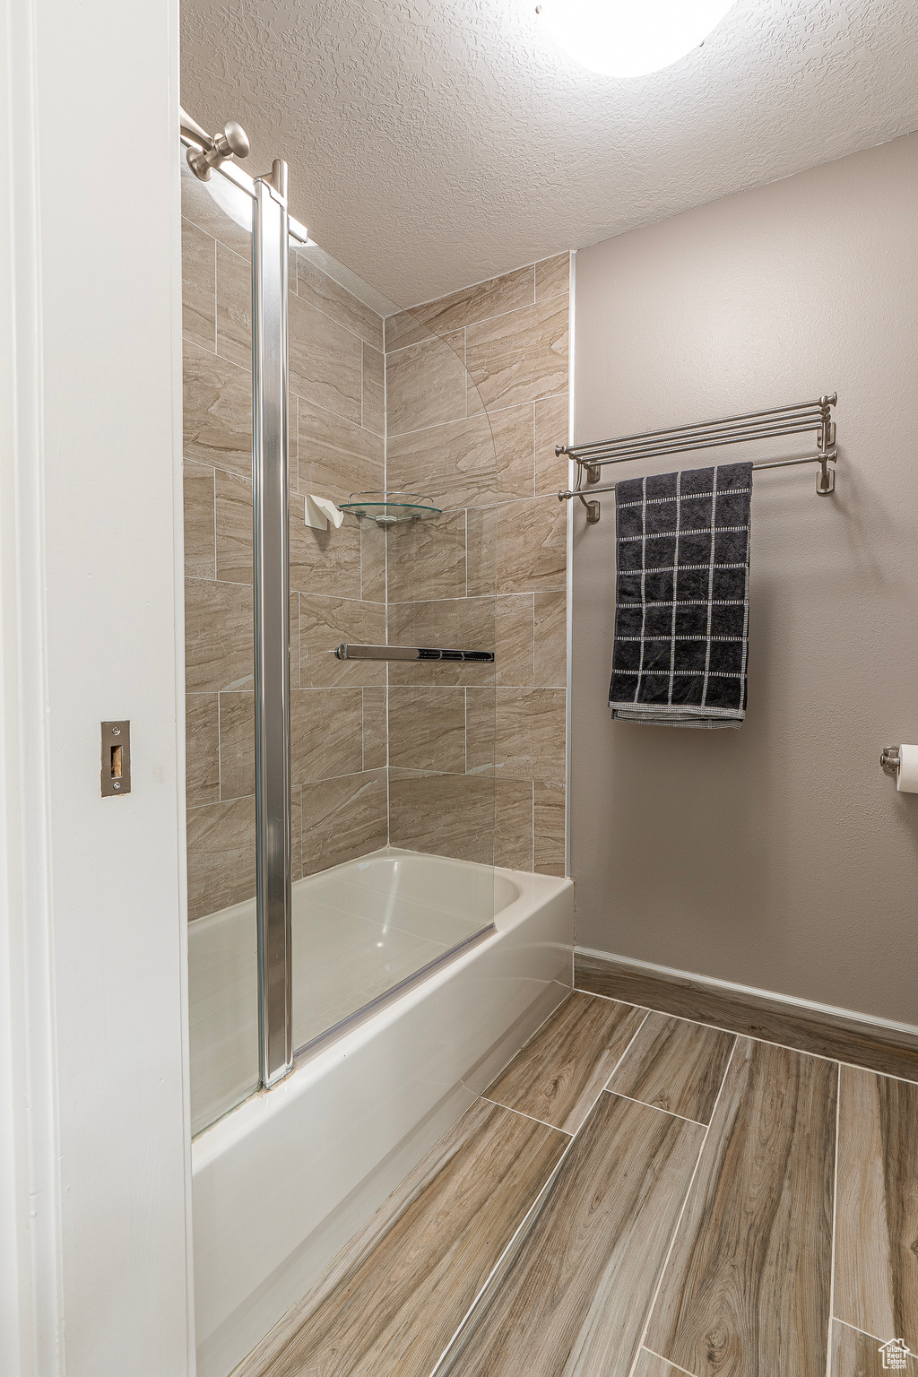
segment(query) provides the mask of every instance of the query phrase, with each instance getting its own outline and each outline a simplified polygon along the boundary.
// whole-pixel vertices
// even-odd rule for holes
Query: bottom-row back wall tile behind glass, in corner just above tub
[[[491,865],[494,781],[389,770],[389,843]]]

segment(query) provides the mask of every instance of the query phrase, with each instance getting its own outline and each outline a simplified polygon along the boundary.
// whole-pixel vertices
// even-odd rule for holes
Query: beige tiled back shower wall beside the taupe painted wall
[[[568,262],[563,253],[385,322],[387,486],[449,508],[428,527],[436,554],[423,577],[416,560],[394,558],[412,527],[389,532],[389,642],[476,644],[490,617],[497,684],[469,677],[461,697],[434,677],[436,666],[425,687],[407,677],[414,666],[391,668],[389,839],[490,859],[493,797],[495,863],[553,874],[564,872],[566,508],[556,493],[567,465],[555,445],[567,441]]]

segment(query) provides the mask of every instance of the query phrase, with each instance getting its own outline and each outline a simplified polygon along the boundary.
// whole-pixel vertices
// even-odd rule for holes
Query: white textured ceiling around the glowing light
[[[918,128],[915,0],[738,0],[632,81],[534,7],[182,0],[182,101],[242,121],[249,171],[286,157],[293,213],[402,304]]]

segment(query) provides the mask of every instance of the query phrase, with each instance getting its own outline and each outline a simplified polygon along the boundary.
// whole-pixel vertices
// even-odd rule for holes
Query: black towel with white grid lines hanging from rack
[[[751,464],[615,485],[612,717],[742,723],[751,492]]]

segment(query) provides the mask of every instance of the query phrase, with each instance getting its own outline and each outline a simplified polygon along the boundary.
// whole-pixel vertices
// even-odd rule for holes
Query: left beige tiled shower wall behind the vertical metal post
[[[255,892],[250,237],[183,179],[189,914]],[[387,840],[385,639],[374,526],[304,525],[306,492],[381,487],[383,319],[290,257],[293,877]]]

